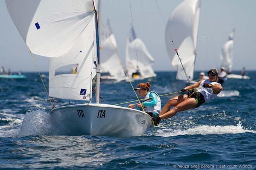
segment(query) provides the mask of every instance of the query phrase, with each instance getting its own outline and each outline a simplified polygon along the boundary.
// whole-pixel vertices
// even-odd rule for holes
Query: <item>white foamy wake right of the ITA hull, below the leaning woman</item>
[[[201,125],[194,128],[186,129],[186,130],[173,130],[170,132],[170,129],[158,129],[154,135],[156,136],[178,136],[178,135],[207,135],[207,134],[236,134],[236,133],[256,133],[254,130],[246,130],[243,129],[241,122],[237,124],[237,126],[208,126]]]

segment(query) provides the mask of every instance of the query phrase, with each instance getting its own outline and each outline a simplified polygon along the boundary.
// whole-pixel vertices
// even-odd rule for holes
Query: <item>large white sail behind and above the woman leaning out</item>
[[[194,76],[200,4],[201,0],[184,0],[180,3],[168,20],[165,31],[166,48],[172,59],[171,65],[176,68],[178,64],[178,56],[173,49],[174,42],[189,80],[193,80]],[[179,79],[187,80],[180,61],[178,67]]]

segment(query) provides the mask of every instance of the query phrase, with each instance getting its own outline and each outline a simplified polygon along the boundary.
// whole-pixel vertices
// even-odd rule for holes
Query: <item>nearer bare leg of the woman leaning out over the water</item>
[[[196,107],[196,100],[194,98],[187,98],[183,100],[183,102],[180,102],[178,105],[173,107],[170,111],[160,115],[159,117],[161,119],[168,119],[170,117],[173,117],[177,112],[181,112],[188,109],[193,109]]]

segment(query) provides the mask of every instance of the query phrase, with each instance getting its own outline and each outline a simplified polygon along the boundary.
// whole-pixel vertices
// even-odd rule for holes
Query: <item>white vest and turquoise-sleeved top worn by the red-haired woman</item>
[[[153,115],[158,116],[161,112],[161,99],[154,91],[148,92],[144,99],[148,99],[150,97],[153,97],[150,102],[143,102],[143,105],[145,106],[144,110],[151,117],[153,117]],[[157,99],[155,97],[157,97]]]

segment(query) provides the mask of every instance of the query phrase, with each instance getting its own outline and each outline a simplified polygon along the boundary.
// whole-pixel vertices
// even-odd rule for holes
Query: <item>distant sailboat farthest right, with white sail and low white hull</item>
[[[231,74],[232,66],[233,66],[233,58],[234,58],[234,36],[235,29],[229,34],[228,41],[225,42],[221,49],[220,59],[221,59],[221,67],[224,67],[227,71],[228,78],[238,78],[238,79],[250,79],[249,76],[235,75]]]

